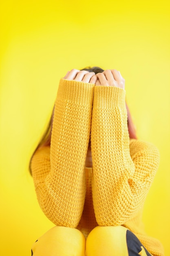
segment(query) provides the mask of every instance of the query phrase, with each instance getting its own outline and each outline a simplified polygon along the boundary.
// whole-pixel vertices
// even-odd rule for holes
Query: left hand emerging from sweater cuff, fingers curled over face
[[[68,71],[63,79],[80,81],[84,83],[95,83],[97,81],[97,76],[95,75],[95,72],[73,69]]]

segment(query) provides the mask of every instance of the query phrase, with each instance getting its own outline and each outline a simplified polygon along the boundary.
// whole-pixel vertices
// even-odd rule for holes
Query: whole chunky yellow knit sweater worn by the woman
[[[97,225],[122,225],[154,256],[163,247],[144,232],[142,208],[159,165],[159,151],[129,139],[126,91],[61,79],[51,147],[31,161],[42,211],[57,226],[88,236]],[[93,167],[85,166],[91,133]]]

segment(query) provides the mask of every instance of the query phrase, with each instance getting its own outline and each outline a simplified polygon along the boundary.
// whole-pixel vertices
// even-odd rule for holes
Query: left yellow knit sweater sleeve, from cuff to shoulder
[[[31,161],[40,207],[57,226],[77,227],[82,215],[93,87],[91,83],[60,80],[51,146],[39,148]]]

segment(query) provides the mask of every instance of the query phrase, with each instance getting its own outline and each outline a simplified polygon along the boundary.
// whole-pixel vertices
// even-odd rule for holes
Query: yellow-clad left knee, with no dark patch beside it
[[[84,256],[86,239],[78,229],[53,227],[32,246],[33,256]]]

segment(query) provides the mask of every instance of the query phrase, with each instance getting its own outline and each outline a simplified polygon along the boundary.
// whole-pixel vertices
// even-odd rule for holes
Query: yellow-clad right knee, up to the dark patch
[[[123,226],[95,227],[86,239],[86,256],[128,255]]]

